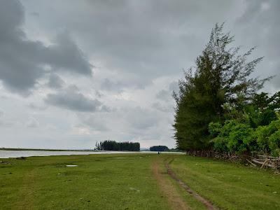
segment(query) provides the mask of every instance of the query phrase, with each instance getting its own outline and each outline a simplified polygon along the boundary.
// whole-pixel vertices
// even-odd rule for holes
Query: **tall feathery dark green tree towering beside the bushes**
[[[209,148],[209,123],[223,122],[225,107],[238,110],[240,104],[251,102],[269,79],[251,78],[262,57],[248,62],[254,48],[240,54],[239,47],[229,47],[232,41],[233,36],[223,33],[223,24],[216,24],[195,67],[179,80],[179,92],[174,92],[174,138],[179,149]]]

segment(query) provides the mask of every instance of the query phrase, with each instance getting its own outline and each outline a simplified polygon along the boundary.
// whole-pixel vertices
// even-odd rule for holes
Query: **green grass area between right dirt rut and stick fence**
[[[190,188],[222,209],[280,209],[279,174],[185,155],[171,166]]]

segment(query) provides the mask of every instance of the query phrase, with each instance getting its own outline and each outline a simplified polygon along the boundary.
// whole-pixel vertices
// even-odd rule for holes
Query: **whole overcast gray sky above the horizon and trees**
[[[172,148],[172,90],[216,22],[280,90],[279,14],[278,0],[1,0],[0,147]]]

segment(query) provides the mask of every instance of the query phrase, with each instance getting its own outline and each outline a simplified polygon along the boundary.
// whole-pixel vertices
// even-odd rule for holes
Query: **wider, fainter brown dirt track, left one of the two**
[[[162,193],[164,194],[165,198],[167,199],[169,206],[172,209],[190,209],[186,202],[183,201],[181,195],[172,185],[172,181],[168,179],[168,174],[164,173],[165,169],[162,170],[160,167],[160,160],[156,160],[153,162],[152,170],[155,178],[157,179]]]

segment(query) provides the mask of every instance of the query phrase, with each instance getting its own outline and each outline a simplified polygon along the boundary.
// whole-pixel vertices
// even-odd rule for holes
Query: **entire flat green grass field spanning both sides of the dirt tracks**
[[[186,155],[2,159],[0,209],[206,209],[165,169],[220,209],[280,209],[280,176]],[[78,165],[78,167],[66,167]]]

